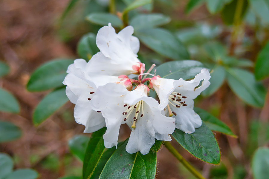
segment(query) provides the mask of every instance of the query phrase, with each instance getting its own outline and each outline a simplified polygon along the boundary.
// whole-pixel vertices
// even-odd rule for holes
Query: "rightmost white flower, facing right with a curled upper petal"
[[[193,110],[193,99],[210,85],[209,79],[208,70],[202,69],[201,73],[190,81],[154,76],[149,86],[156,91],[160,99],[159,107],[165,108],[166,114],[175,118],[176,128],[185,133],[193,133],[195,128],[202,125],[200,116]]]

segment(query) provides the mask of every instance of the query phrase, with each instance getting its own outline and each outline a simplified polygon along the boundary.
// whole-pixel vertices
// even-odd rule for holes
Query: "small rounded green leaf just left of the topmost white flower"
[[[78,42],[77,53],[81,58],[87,61],[99,51],[96,45],[96,35],[94,33],[84,35]]]

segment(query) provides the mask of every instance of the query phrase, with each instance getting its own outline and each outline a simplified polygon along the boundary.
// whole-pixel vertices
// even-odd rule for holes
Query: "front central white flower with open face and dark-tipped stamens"
[[[103,138],[107,148],[117,146],[120,125],[125,123],[132,129],[126,146],[129,153],[147,154],[155,138],[171,140],[169,134],[175,130],[175,119],[163,115],[158,101],[148,97],[148,92],[143,84],[131,92],[113,83],[98,87],[91,107],[105,118],[107,130]]]

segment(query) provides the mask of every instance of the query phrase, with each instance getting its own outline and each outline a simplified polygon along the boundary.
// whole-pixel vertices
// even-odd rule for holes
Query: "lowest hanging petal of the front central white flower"
[[[155,132],[151,122],[147,119],[137,120],[136,128],[132,129],[126,151],[130,154],[140,151],[145,155],[155,142]]]

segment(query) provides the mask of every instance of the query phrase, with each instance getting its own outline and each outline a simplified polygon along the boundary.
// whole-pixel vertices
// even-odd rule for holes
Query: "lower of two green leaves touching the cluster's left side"
[[[65,87],[54,90],[46,95],[33,112],[34,125],[37,126],[41,124],[67,101],[68,98],[65,94]]]

